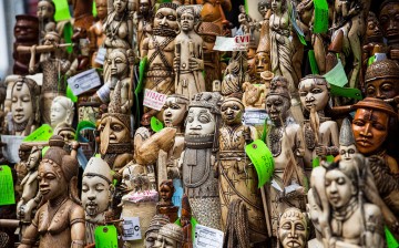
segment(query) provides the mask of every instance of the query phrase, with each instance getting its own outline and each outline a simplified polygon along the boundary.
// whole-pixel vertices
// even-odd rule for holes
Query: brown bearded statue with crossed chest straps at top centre
[[[154,18],[153,33],[143,40],[141,54],[149,58],[144,87],[167,95],[175,92],[173,58],[178,31],[176,9],[174,3],[160,4]]]

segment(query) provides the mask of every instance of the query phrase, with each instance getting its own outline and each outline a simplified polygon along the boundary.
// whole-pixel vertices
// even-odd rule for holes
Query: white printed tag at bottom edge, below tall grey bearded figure
[[[211,227],[196,225],[194,248],[222,248],[224,232]]]

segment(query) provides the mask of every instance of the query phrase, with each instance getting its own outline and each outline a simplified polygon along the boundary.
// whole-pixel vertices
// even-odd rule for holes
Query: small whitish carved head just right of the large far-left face
[[[66,96],[57,96],[51,104],[51,127],[58,134],[61,127],[72,126],[74,104]]]

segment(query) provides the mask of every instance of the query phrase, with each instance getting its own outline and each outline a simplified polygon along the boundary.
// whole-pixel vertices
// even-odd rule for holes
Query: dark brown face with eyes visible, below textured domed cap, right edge
[[[377,79],[367,82],[366,96],[376,99],[393,99],[399,95],[399,79]]]

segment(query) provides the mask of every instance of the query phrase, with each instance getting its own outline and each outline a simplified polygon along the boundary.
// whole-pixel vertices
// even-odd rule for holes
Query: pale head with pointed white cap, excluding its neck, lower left
[[[82,206],[89,218],[104,213],[112,198],[111,168],[100,157],[90,158],[82,179]]]

